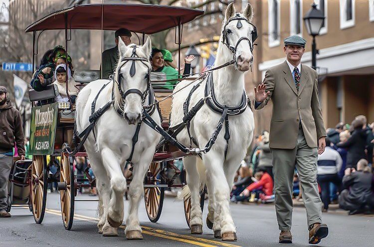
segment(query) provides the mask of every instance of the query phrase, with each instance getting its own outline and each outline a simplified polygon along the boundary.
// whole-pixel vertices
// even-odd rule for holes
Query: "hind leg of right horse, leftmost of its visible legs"
[[[183,164],[187,173],[187,185],[191,194],[190,222],[191,234],[202,234],[202,213],[200,208],[200,176],[196,167],[196,157],[185,157]]]

